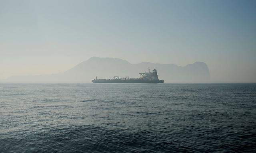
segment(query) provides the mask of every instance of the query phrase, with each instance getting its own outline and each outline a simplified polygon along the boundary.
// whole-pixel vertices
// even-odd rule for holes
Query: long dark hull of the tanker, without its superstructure
[[[94,79],[93,83],[164,83],[164,80],[145,79]]]

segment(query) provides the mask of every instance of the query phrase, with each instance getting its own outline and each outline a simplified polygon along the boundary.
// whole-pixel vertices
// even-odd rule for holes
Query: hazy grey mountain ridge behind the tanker
[[[72,69],[52,75],[13,76],[6,82],[91,82],[96,76],[112,78],[114,76],[139,78],[147,68],[156,69],[159,79],[165,82],[207,82],[210,72],[206,63],[196,62],[180,67],[175,64],[158,64],[142,62],[131,64],[126,60],[116,58],[91,57]]]

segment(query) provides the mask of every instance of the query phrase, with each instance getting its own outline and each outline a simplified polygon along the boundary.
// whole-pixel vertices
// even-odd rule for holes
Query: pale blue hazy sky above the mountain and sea
[[[96,57],[184,66],[256,82],[256,0],[0,0],[0,79]]]

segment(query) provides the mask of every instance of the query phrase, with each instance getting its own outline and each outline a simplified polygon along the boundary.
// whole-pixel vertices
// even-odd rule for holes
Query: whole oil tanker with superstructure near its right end
[[[114,77],[110,79],[93,79],[93,83],[164,83],[164,80],[159,80],[156,69],[150,72],[148,68],[148,72],[139,73],[141,78],[130,78],[130,77]]]

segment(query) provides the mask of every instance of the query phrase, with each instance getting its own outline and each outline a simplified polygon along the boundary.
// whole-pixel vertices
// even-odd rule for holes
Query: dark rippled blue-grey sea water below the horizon
[[[255,151],[256,84],[0,83],[1,153]]]

